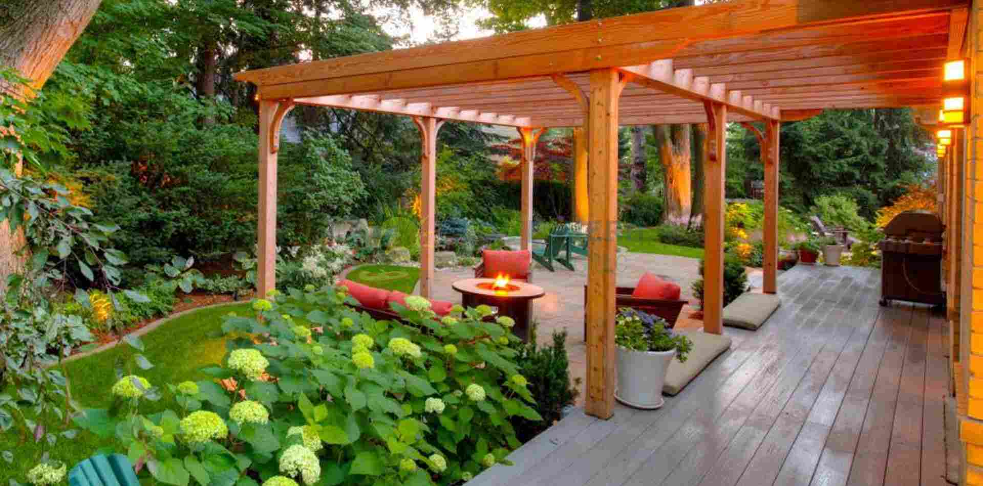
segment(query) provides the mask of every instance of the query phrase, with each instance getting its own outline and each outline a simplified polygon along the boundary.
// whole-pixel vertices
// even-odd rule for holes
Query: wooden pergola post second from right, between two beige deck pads
[[[704,200],[704,265],[703,265],[703,330],[710,334],[723,333],[723,212],[726,169],[727,107],[712,101],[704,102],[707,111],[707,157],[703,160]]]

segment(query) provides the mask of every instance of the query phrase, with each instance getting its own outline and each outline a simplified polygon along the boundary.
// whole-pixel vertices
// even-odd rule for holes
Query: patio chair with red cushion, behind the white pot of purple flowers
[[[614,308],[630,307],[665,319],[669,329],[675,327],[682,306],[679,286],[645,272],[635,287],[615,287]],[[587,340],[587,286],[584,286],[584,340]]]

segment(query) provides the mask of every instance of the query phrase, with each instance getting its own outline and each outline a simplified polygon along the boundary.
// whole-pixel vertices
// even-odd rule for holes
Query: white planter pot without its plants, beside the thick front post
[[[617,389],[614,398],[618,402],[636,408],[653,409],[665,404],[663,385],[669,361],[675,357],[672,351],[631,351],[617,348]]]

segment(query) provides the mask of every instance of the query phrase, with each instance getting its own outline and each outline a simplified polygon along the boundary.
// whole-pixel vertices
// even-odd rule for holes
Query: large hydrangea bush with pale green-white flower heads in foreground
[[[410,298],[393,306],[404,322],[376,321],[344,291],[291,290],[226,316],[234,339],[203,370],[213,379],[163,387],[179,410],[142,414],[157,389],[127,376],[117,405],[78,422],[181,486],[449,485],[507,463],[520,445],[510,419],[542,420],[512,323],[485,306],[438,319]]]

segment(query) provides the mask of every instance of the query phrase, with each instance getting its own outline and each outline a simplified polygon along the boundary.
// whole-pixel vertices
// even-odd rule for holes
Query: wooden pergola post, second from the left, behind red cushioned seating
[[[436,134],[443,120],[413,117],[420,129],[420,295],[434,294],[434,241],[436,222]]]

